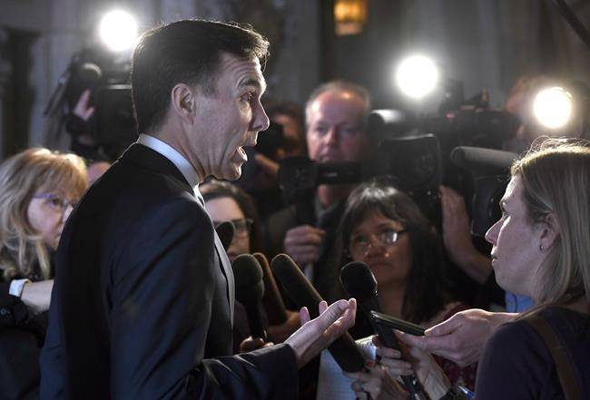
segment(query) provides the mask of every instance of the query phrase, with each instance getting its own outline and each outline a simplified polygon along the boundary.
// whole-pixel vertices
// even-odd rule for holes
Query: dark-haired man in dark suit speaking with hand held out
[[[267,47],[251,29],[196,20],[143,35],[143,133],[64,229],[42,398],[295,398],[297,367],[352,325],[343,300],[312,321],[302,311],[309,323],[283,345],[231,356],[233,277],[198,184],[237,179],[242,147],[268,127]]]

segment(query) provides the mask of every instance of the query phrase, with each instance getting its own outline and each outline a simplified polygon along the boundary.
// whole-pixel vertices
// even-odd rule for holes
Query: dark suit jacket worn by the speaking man
[[[231,356],[233,303],[229,260],[192,188],[134,144],[64,228],[41,397],[293,398],[290,346]]]

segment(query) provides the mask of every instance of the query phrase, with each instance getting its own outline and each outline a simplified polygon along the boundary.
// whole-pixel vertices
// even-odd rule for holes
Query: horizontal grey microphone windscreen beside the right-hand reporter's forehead
[[[518,154],[510,151],[470,146],[459,146],[451,151],[451,161],[457,167],[466,169],[507,170],[516,160],[516,157],[518,157]]]

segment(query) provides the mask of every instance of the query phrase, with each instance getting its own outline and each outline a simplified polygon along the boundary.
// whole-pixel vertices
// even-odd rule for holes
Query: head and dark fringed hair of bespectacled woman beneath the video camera
[[[429,325],[450,304],[438,235],[404,192],[373,180],[350,193],[339,247],[339,267],[363,261],[372,270],[385,313]]]

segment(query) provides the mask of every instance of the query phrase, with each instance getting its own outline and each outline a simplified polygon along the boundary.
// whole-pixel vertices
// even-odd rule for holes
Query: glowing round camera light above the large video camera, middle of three
[[[415,99],[431,93],[438,83],[438,69],[428,57],[414,55],[402,61],[396,72],[399,89]]]

